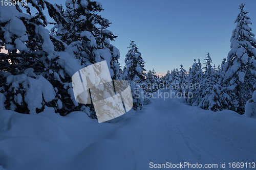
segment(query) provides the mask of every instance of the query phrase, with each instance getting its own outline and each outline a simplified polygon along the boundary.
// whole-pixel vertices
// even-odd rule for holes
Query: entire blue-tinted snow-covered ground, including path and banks
[[[152,99],[141,111],[101,124],[84,112],[62,117],[0,110],[0,170],[256,162],[255,118],[205,111],[172,97]]]

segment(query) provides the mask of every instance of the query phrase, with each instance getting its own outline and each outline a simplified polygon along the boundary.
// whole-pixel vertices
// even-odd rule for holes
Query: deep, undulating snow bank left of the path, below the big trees
[[[133,169],[127,143],[108,137],[120,126],[98,124],[84,112],[0,110],[0,169]]]

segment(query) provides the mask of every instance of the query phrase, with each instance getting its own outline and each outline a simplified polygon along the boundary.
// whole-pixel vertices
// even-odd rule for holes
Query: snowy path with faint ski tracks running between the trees
[[[142,141],[137,148],[137,169],[151,169],[150,162],[189,162],[203,166],[217,163],[217,169],[221,169],[221,162],[226,162],[226,165],[228,162],[255,162],[256,153],[243,149],[235,139],[224,137],[215,129],[206,129],[187,116],[197,108],[177,99],[155,99],[152,105],[150,109],[155,109],[157,114],[151,114],[146,120]],[[144,156],[146,159],[142,162],[139,157]]]

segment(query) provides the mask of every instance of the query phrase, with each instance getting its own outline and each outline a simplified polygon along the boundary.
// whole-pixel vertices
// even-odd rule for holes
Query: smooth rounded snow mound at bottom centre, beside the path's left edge
[[[99,140],[78,154],[73,159],[70,169],[83,169],[84,167],[88,170],[111,170],[120,167],[124,170],[134,169],[132,152],[124,148],[127,148],[126,143],[117,140]]]

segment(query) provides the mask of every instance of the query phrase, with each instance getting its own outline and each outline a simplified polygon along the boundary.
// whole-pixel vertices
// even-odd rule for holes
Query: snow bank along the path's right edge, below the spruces
[[[250,152],[256,153],[256,119],[244,117],[234,111],[205,111],[199,108],[188,107],[187,116],[194,119],[210,131],[215,130],[223,135],[227,141],[234,140]],[[193,114],[191,114],[193,112]],[[249,134],[249,135],[248,135]]]

